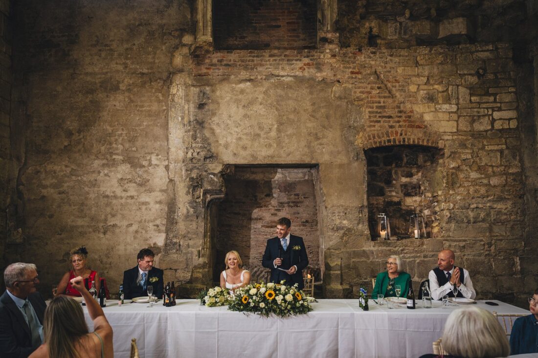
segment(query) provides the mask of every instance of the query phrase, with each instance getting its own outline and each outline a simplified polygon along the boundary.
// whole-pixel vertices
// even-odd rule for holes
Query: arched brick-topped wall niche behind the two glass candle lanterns
[[[420,214],[431,237],[438,224],[436,195],[437,163],[442,152],[422,145],[394,145],[364,151],[367,166],[368,223],[373,241],[383,240],[378,232],[378,215],[389,219],[390,240],[414,237],[409,220]]]

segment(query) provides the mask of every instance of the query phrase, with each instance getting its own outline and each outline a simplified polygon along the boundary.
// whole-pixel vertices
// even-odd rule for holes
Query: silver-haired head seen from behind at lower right
[[[497,318],[474,306],[450,313],[442,341],[443,349],[455,356],[489,358],[510,354],[506,334]]]

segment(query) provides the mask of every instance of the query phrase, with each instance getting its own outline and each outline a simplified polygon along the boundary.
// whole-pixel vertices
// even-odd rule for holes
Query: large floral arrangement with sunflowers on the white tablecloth
[[[298,290],[297,284],[286,286],[284,281],[281,284],[251,284],[235,290],[228,310],[286,317],[312,311],[311,301],[314,298]]]

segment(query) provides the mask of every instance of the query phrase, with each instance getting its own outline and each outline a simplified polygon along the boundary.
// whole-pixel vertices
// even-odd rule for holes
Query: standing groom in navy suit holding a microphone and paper
[[[302,270],[308,266],[305,243],[302,237],[290,235],[292,222],[287,217],[277,221],[277,236],[267,240],[261,264],[271,269],[271,282],[286,285],[299,284],[299,290],[305,286]]]

